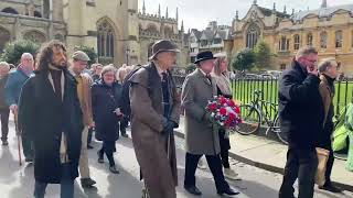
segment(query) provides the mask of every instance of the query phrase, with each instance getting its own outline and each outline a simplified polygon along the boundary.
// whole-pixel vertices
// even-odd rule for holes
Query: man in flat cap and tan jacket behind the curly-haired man
[[[89,57],[86,53],[82,51],[74,52],[73,64],[69,68],[71,74],[75,77],[77,81],[77,96],[81,103],[81,109],[83,112],[84,130],[82,132],[82,150],[79,157],[79,174],[81,184],[84,188],[92,188],[96,184],[95,180],[90,178],[89,166],[88,166],[88,151],[87,151],[87,136],[88,130],[95,127],[92,116],[92,96],[90,86],[92,79],[88,74],[83,73],[87,67]]]

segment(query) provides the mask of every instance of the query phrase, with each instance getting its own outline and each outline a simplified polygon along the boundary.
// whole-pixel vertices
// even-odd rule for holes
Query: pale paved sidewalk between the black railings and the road
[[[184,136],[184,119],[181,118],[176,135]],[[282,173],[286,164],[287,146],[257,135],[231,135],[231,157],[243,163],[267,170]],[[335,160],[332,170],[332,180],[346,190],[353,191],[353,173],[345,169],[345,161]]]

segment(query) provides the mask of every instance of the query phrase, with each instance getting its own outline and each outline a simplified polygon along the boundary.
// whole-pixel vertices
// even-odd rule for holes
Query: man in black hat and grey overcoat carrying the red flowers
[[[212,52],[199,53],[195,61],[197,68],[186,77],[182,89],[186,141],[184,188],[196,196],[202,195],[195,184],[195,170],[202,155],[206,156],[217,194],[239,194],[224,179],[218,131],[212,128],[205,111],[208,100],[217,95],[216,82],[210,75],[214,59]]]

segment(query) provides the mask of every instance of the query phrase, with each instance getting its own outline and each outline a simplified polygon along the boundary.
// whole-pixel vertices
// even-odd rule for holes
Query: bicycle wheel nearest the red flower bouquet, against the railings
[[[240,106],[243,123],[236,127],[236,131],[243,135],[255,133],[260,128],[260,112],[250,105]]]

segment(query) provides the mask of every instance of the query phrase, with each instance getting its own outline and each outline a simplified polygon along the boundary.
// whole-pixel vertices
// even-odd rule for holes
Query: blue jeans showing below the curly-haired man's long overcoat
[[[44,198],[47,184],[35,180],[34,198]],[[74,198],[74,179],[71,178],[69,164],[63,164],[61,198]]]

